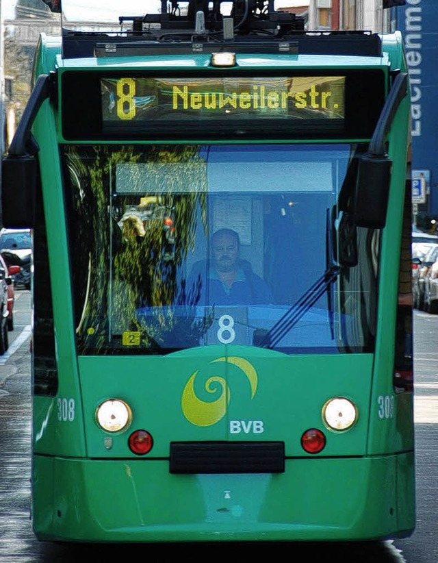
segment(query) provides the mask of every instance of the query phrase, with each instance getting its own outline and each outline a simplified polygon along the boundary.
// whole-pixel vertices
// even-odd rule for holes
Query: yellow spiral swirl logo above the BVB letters
[[[240,368],[249,381],[251,389],[250,399],[253,399],[257,391],[257,371],[255,371],[253,364],[237,356],[216,358],[216,360],[212,360],[210,364],[216,362],[227,362]],[[196,426],[211,426],[225,416],[231,399],[231,392],[227,381],[225,381],[223,377],[213,375],[205,381],[204,388],[207,392],[218,395],[218,397],[214,401],[203,401],[199,399],[194,390],[194,381],[198,373],[199,370],[192,373],[190,379],[185,384],[181,397],[181,408],[183,409],[185,418],[192,424]],[[215,386],[215,383],[217,383],[218,386]]]

